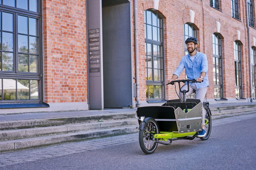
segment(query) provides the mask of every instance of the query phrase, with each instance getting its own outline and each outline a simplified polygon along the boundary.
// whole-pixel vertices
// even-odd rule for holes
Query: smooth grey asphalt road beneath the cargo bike
[[[208,140],[202,141],[195,138],[194,140],[173,141],[169,146],[159,144],[156,151],[150,155],[144,154],[140,149],[139,141],[135,140],[135,142],[124,144],[121,142],[118,145],[100,149],[3,166],[0,169],[255,170],[256,114],[250,119],[246,119],[246,116],[242,115],[240,119],[233,117],[233,119],[214,120],[211,136]],[[138,133],[132,135],[136,138]],[[125,135],[119,136],[119,139],[120,141],[127,140]],[[21,153],[18,152],[18,154]]]

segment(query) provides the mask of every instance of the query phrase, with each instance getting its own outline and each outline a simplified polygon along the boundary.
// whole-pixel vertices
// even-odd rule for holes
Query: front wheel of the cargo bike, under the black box
[[[156,150],[158,139],[154,134],[159,133],[159,128],[153,118],[147,119],[142,129],[139,130],[139,143],[141,150],[146,154],[151,154]]]

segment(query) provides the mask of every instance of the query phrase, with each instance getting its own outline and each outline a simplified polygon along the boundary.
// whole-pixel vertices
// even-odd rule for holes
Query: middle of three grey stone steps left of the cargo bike
[[[100,129],[108,129],[108,128],[128,127],[128,126],[138,126],[138,120],[137,119],[125,119],[125,120],[118,120],[118,121],[70,124],[70,125],[42,127],[42,128],[1,130],[0,131],[0,141],[31,138],[31,137],[38,137],[38,136],[45,136],[45,135],[73,133],[73,132],[79,132],[79,131],[90,131],[90,130],[100,130]]]

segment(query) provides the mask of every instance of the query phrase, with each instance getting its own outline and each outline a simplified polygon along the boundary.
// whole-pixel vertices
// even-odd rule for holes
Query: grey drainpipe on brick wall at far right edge
[[[246,3],[246,25],[247,25],[247,33],[248,33],[248,47],[249,47],[249,71],[250,71],[250,102],[253,102],[252,98],[252,70],[251,70],[251,41],[250,41],[250,26],[249,26],[249,15],[248,15],[248,2]]]

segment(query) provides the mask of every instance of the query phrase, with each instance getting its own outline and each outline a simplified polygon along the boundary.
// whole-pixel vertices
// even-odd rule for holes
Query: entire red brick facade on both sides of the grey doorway
[[[165,81],[171,78],[184,55],[184,24],[190,22],[189,10],[193,10],[195,12],[193,26],[197,29],[199,40],[198,50],[204,52],[208,58],[210,86],[207,99],[214,99],[212,34],[217,33],[217,21],[221,24],[220,32],[217,34],[223,37],[224,98],[235,98],[233,42],[238,39],[237,30],[241,33],[240,42],[242,43],[243,97],[250,97],[246,0],[239,1],[240,20],[232,18],[230,3],[230,0],[221,0],[220,11],[212,8],[210,2],[204,0],[159,0],[158,10],[155,12],[163,18],[164,22]],[[152,8],[154,8],[153,0],[138,0],[139,81],[140,99],[143,102],[146,101],[144,10]],[[131,1],[131,12],[133,16],[133,1]],[[134,16],[132,23],[134,24]],[[134,30],[134,25],[132,27]],[[250,34],[252,46],[252,37],[256,37],[256,29],[250,27]],[[45,102],[87,102],[86,1],[43,0],[43,37]],[[134,37],[132,37],[132,43],[134,47]],[[133,66],[135,77],[134,51]],[[185,78],[185,72],[180,78]],[[166,99],[177,98],[173,86],[167,86],[165,92]]]

